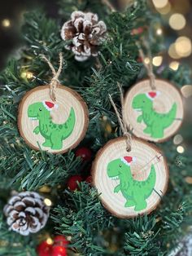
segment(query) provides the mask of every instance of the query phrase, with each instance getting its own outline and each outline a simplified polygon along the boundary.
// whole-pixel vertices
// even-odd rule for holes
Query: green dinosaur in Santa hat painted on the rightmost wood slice
[[[172,108],[168,113],[157,113],[153,108],[153,99],[157,93],[151,91],[146,94],[139,94],[133,98],[132,108],[141,111],[142,115],[137,117],[137,122],[142,121],[146,124],[144,133],[151,136],[151,138],[164,138],[164,129],[172,125],[176,118],[177,104],[172,104]]]

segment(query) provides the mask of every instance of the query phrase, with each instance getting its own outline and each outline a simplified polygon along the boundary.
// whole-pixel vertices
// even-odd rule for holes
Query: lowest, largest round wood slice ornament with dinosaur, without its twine
[[[111,139],[92,166],[94,186],[103,205],[119,218],[155,210],[168,187],[168,166],[162,152],[142,139]]]

